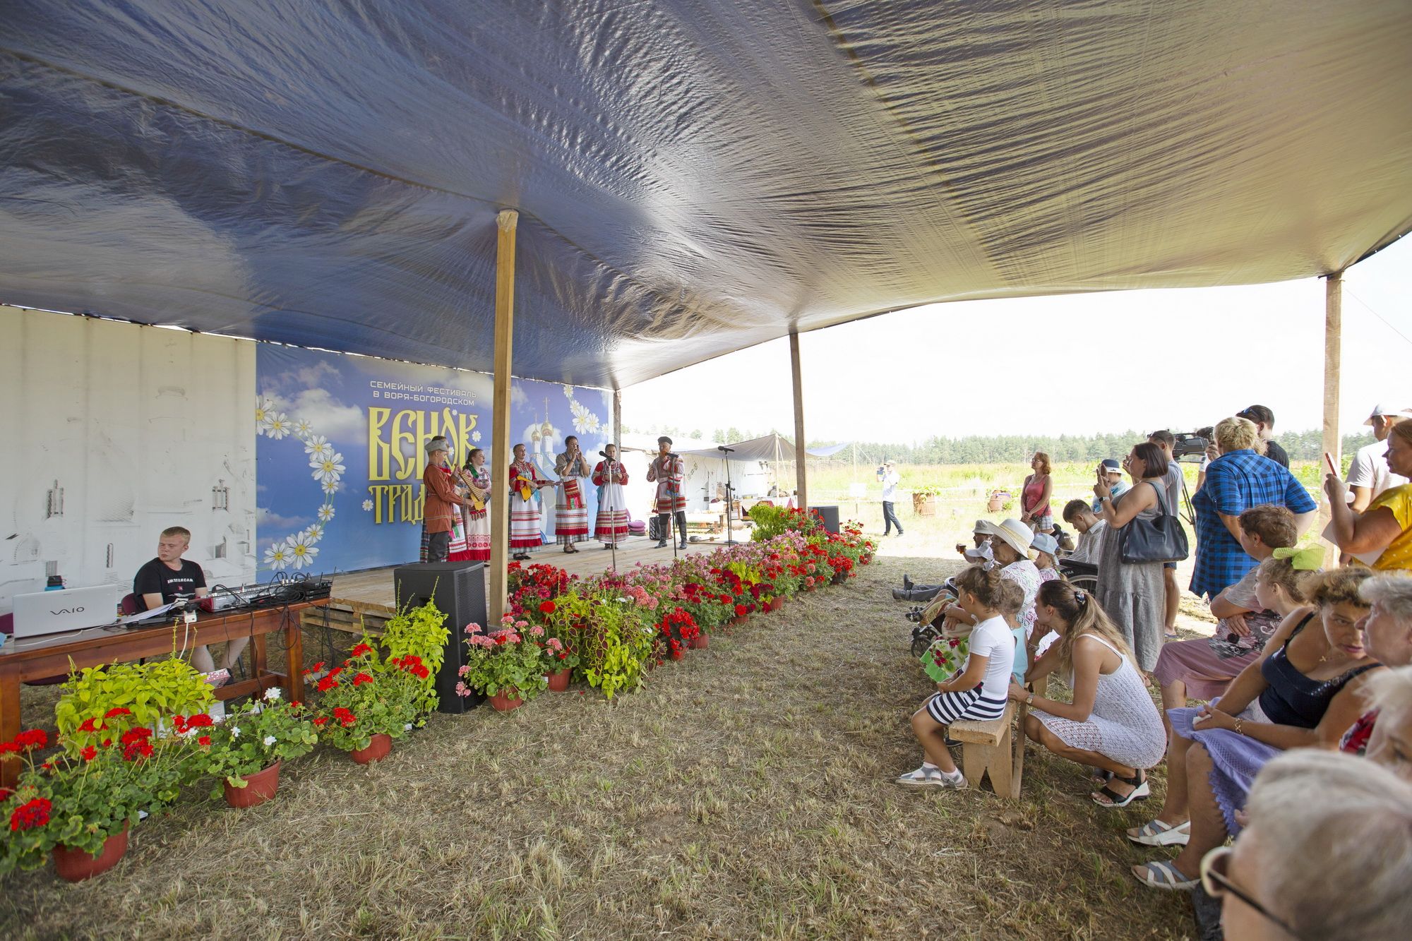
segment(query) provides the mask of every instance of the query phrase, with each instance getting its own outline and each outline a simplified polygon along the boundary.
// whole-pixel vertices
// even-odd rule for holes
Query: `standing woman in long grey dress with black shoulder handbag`
[[[1123,629],[1128,649],[1145,674],[1162,653],[1165,584],[1162,562],[1186,558],[1186,533],[1166,506],[1166,456],[1155,444],[1132,446],[1123,462],[1132,489],[1113,499],[1108,478],[1099,468],[1093,493],[1108,524],[1099,561],[1099,603]],[[1142,486],[1147,485],[1147,486]],[[1172,558],[1165,558],[1171,555]]]

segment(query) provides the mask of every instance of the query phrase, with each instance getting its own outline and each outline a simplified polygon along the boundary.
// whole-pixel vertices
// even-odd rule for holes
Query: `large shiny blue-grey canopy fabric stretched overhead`
[[[11,0],[0,302],[621,387],[1412,227],[1406,0]]]

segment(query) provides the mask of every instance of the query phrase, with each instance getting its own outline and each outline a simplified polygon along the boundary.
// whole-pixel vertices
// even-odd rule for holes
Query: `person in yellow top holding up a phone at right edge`
[[[1332,521],[1329,534],[1344,552],[1370,561],[1378,571],[1412,569],[1412,483],[1384,490],[1368,502],[1364,513],[1348,506],[1347,490],[1333,463],[1324,455],[1324,493],[1329,496]],[[1392,425],[1388,434],[1388,469],[1412,476],[1412,421]]]

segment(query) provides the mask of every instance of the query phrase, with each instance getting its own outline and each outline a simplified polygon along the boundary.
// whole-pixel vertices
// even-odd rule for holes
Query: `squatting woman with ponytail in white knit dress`
[[[1045,582],[1035,600],[1035,623],[1036,630],[1059,634],[1059,641],[1035,661],[1025,678],[1035,682],[1059,673],[1073,690],[1073,702],[1039,697],[1011,684],[1010,698],[1029,704],[1025,735],[1060,757],[1110,774],[1093,794],[1100,807],[1127,807],[1145,800],[1144,769],[1162,760],[1166,732],[1123,632],[1094,596],[1069,582]]]

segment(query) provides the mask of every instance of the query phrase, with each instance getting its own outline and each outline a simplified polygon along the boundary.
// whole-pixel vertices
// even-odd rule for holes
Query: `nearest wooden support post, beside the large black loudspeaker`
[[[490,459],[496,469],[490,475],[490,572],[487,593],[490,625],[505,615],[508,584],[505,581],[510,561],[510,487],[501,478],[510,466],[510,365],[513,362],[515,328],[515,225],[520,213],[501,209],[496,216],[500,229],[496,244],[496,373],[494,400],[490,407]]]

